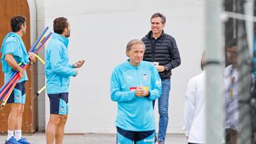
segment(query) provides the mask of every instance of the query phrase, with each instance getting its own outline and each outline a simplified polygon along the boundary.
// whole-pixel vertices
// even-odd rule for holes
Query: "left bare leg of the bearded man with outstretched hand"
[[[46,128],[46,143],[53,144],[55,139],[55,134],[58,125],[60,124],[60,115],[59,114],[50,114],[50,119]]]

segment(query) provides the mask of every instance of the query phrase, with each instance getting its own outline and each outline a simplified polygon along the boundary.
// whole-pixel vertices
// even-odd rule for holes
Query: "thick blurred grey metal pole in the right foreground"
[[[221,0],[206,1],[206,143],[223,141],[223,38]]]

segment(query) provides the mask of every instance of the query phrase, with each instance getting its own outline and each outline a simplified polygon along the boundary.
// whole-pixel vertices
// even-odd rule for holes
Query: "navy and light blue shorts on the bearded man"
[[[68,92],[48,94],[50,99],[50,114],[68,114]]]

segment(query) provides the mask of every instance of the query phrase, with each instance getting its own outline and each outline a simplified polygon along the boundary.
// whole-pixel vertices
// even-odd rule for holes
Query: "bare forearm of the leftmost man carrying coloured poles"
[[[14,59],[14,56],[11,54],[6,54],[4,57],[4,60],[6,60],[7,64],[10,65],[11,68],[16,70],[20,74],[20,78],[24,77],[24,71],[23,69],[17,64],[16,60]]]

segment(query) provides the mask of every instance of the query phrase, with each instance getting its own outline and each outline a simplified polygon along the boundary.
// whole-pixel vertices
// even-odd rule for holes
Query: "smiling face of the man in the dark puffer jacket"
[[[160,35],[163,31],[165,23],[161,22],[160,17],[152,18],[151,19],[151,31],[154,35]]]

